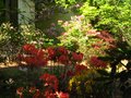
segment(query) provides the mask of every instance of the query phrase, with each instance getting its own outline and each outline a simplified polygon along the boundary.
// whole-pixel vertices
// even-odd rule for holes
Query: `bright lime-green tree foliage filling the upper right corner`
[[[70,0],[69,2],[72,3],[67,3],[67,0],[59,0],[57,2],[63,3],[61,4],[63,7],[80,4],[80,13],[85,15],[96,29],[107,29],[117,38],[123,36],[131,45],[130,0]]]

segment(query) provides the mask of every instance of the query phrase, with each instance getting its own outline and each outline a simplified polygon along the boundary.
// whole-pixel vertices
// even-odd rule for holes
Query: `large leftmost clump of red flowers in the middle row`
[[[45,52],[43,49],[37,49],[33,45],[24,45],[23,48],[23,54],[19,54],[17,58],[21,61],[24,61],[27,63],[27,65],[32,66],[43,66],[47,65],[47,58],[45,57]]]

